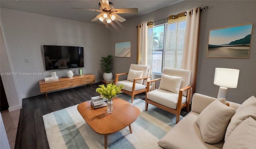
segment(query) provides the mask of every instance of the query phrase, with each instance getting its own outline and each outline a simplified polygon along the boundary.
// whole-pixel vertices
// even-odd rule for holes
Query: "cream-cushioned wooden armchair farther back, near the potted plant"
[[[150,79],[149,70],[150,67],[148,66],[131,64],[129,72],[116,74],[115,84],[124,84],[124,88],[121,91],[132,96],[131,103],[133,102],[134,95],[146,92],[147,80]],[[118,81],[118,77],[125,74],[128,74],[127,79]]]

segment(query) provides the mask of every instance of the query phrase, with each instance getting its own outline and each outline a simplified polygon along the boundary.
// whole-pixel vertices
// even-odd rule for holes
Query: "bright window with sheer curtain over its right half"
[[[149,50],[152,73],[161,74],[164,67],[181,68],[186,28],[186,16],[168,20],[166,24],[153,26],[148,30],[148,38],[152,38],[152,52]],[[150,45],[150,44],[149,44]]]

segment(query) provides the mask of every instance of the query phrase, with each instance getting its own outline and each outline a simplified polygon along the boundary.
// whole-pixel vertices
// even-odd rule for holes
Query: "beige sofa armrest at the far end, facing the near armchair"
[[[206,108],[212,101],[217,98],[202,95],[200,93],[194,93],[192,97],[191,111],[200,114],[204,108]]]

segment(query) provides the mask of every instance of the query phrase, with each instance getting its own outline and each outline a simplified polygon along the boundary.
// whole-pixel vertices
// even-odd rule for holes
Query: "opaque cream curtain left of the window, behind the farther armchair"
[[[138,25],[138,54],[137,64],[147,65],[148,55],[148,26],[146,23]]]

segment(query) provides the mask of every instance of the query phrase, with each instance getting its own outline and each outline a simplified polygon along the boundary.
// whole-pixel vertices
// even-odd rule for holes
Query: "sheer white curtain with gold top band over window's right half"
[[[164,67],[181,68],[186,16],[168,19]]]

